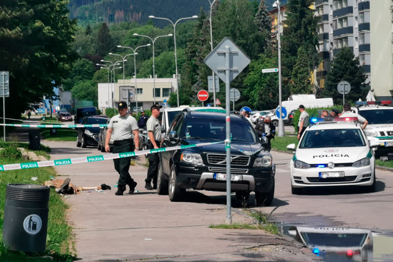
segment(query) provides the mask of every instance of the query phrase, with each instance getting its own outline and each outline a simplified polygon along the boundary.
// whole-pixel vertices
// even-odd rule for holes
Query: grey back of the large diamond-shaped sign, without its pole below
[[[207,66],[224,82],[225,79],[225,48],[229,47],[229,81],[232,81],[250,63],[250,58],[231,40],[225,37],[205,58]]]

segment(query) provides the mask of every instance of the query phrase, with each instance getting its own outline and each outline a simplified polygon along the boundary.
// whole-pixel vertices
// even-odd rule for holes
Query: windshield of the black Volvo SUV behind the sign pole
[[[226,139],[225,119],[188,118],[185,136],[203,139]],[[241,119],[231,118],[232,141],[258,143],[254,128]]]

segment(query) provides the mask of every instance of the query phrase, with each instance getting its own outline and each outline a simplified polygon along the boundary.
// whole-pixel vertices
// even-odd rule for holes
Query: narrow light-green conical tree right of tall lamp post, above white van
[[[307,50],[300,46],[297,51],[296,63],[292,70],[291,94],[310,94],[313,92],[310,68]]]

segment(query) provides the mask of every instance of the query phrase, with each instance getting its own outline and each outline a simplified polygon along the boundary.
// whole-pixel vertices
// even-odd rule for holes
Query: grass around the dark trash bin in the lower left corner
[[[44,151],[45,152],[45,151]],[[0,164],[13,164],[29,162],[21,158],[2,158]],[[21,184],[43,184],[43,182],[50,180],[50,176],[55,177],[56,171],[52,167],[9,170],[0,172],[0,239],[3,239],[3,220],[4,220],[4,206],[6,187],[9,183]],[[32,177],[37,177],[36,181],[31,180]],[[50,191],[49,200],[49,221],[48,221],[48,235],[45,254],[50,255],[55,261],[72,261],[75,258],[75,248],[72,243],[72,228],[65,220],[65,211],[68,206],[61,200],[61,196],[57,194],[54,189]],[[40,257],[42,254],[29,254],[23,252],[8,251],[0,240],[0,261],[51,261],[48,258]]]

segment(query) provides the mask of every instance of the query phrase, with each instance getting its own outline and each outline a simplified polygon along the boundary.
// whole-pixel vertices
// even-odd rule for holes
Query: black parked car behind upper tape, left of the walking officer
[[[82,124],[106,124],[107,118],[102,117],[85,117],[82,119]],[[78,127],[78,136],[76,138],[77,147],[97,146],[98,135],[100,133],[99,127]]]

